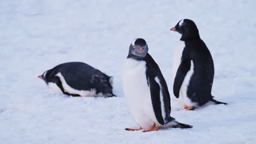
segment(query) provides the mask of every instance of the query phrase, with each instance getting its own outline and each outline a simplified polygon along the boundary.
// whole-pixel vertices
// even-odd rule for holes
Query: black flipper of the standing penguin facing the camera
[[[159,86],[159,83],[155,81],[153,76],[148,76],[148,85],[150,87],[150,95],[151,95],[155,117],[160,124],[164,125],[165,122],[164,122],[164,118],[162,117],[161,100],[160,100],[161,87]]]

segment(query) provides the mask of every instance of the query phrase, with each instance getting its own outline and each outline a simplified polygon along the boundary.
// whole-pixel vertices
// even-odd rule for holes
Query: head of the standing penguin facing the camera
[[[137,38],[132,40],[129,48],[129,55],[135,55],[137,57],[145,57],[148,53],[148,44],[146,40]]]

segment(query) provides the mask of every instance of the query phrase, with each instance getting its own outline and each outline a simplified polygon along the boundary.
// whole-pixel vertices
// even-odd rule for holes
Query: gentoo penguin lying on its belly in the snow
[[[113,97],[113,77],[82,62],[68,62],[46,70],[38,78],[49,88],[74,97]]]

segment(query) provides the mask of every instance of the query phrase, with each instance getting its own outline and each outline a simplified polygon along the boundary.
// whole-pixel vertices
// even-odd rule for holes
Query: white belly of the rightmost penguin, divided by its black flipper
[[[179,44],[179,46],[177,47],[176,49],[176,52],[175,52],[175,55],[173,56],[174,59],[173,59],[173,67],[172,67],[172,70],[173,70],[173,79],[175,78],[176,76],[176,73],[177,73],[177,70],[179,68],[179,65],[181,64],[181,58],[182,58],[182,52],[185,48],[185,43],[184,41],[181,41],[182,43]],[[188,91],[188,85],[189,85],[189,81],[191,79],[191,76],[193,75],[194,73],[194,63],[193,61],[190,62],[191,63],[191,67],[190,67],[190,70],[188,71],[188,73],[186,74],[184,80],[183,80],[183,83],[182,83],[182,86],[181,86],[181,89],[179,90],[179,98],[178,98],[178,101],[181,105],[183,106],[197,106],[196,103],[193,103],[189,98],[188,98],[188,95],[187,95],[187,91]]]

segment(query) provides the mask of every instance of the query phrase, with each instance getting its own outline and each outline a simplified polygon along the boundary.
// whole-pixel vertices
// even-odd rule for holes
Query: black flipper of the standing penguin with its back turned
[[[181,64],[179,64],[179,68],[177,70],[174,84],[173,84],[173,94],[176,98],[179,98],[179,91],[181,90],[182,83],[190,70],[191,63],[189,60],[182,59]]]

